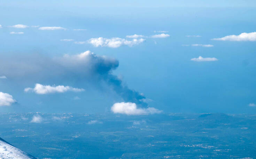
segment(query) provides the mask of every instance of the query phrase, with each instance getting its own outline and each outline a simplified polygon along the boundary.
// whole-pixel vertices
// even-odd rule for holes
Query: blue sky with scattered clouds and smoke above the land
[[[0,6],[1,112],[256,112],[254,1]]]

